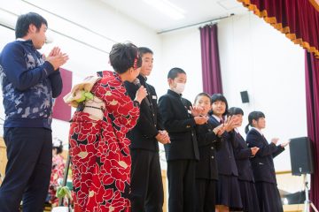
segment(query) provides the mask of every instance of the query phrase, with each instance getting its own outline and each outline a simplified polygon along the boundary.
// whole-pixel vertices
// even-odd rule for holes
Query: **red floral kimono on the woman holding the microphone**
[[[116,72],[103,72],[91,93],[105,102],[103,120],[76,111],[70,128],[74,211],[130,211],[131,159],[126,137],[136,125],[136,107]]]

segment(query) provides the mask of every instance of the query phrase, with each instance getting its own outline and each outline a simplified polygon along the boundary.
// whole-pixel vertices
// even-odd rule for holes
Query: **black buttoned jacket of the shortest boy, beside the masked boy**
[[[213,125],[197,125],[199,161],[196,164],[196,178],[218,179],[216,150],[221,147],[222,138],[215,135]]]

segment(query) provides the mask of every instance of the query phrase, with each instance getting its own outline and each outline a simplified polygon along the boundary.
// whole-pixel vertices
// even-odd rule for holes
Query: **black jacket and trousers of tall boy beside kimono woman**
[[[146,83],[146,79],[137,77],[147,94],[140,105],[140,117],[136,126],[128,133],[131,140],[130,155],[132,212],[161,212],[164,202],[163,184],[159,164],[159,142],[155,136],[163,130],[158,112],[157,95],[154,87]],[[136,97],[139,86],[125,82],[128,95]]]

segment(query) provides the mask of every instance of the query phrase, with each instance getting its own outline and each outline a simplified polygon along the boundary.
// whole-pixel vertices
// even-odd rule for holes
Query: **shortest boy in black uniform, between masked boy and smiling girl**
[[[203,109],[201,116],[207,117],[211,110],[211,98],[206,93],[200,93],[196,96],[194,105]],[[218,180],[216,150],[221,146],[222,133],[222,125],[213,127],[207,122],[196,126],[199,150],[199,161],[196,164],[197,212],[215,211]]]

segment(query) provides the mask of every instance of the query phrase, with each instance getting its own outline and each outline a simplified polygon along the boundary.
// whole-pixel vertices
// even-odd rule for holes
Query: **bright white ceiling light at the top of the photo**
[[[152,7],[156,8],[172,19],[185,18],[183,15],[185,11],[167,0],[144,0],[144,2],[150,4]]]

